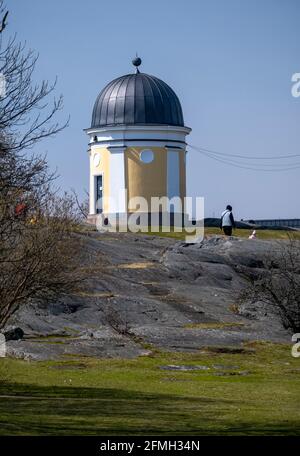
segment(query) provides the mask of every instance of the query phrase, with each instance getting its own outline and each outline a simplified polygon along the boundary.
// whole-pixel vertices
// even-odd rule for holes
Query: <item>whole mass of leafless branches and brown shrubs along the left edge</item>
[[[62,97],[49,105],[55,83],[33,83],[37,56],[16,37],[4,40],[6,20],[0,2],[0,329],[28,300],[70,292],[84,278],[76,200],[58,196],[46,158],[30,150],[66,127],[55,121]]]

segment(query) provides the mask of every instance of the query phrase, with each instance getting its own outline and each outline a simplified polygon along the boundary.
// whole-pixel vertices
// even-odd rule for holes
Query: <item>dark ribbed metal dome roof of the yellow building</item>
[[[98,95],[91,128],[151,124],[184,126],[176,93],[160,79],[137,71],[114,79]]]

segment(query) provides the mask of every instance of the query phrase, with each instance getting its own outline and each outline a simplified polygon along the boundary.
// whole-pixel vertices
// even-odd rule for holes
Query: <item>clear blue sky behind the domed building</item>
[[[94,100],[115,77],[141,71],[179,96],[192,145],[245,156],[300,154],[298,0],[7,0],[11,34],[36,50],[35,77],[54,80],[70,126],[39,145],[64,189],[88,188],[87,136]],[[300,163],[298,159],[287,162]],[[254,160],[255,162],[255,160]],[[299,217],[300,168],[240,169],[190,150],[188,194],[206,216],[232,204],[236,218]]]

